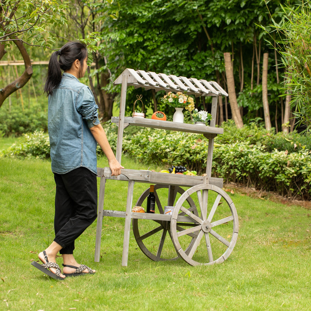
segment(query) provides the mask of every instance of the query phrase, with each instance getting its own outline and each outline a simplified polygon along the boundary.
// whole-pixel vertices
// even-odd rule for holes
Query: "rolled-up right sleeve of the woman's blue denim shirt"
[[[82,115],[89,128],[100,124],[98,119],[98,106],[95,103],[94,95],[88,86],[83,86],[77,96],[76,109]]]

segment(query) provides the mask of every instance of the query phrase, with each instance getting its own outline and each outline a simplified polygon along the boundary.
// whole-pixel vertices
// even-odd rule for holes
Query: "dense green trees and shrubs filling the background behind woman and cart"
[[[44,47],[58,49],[68,40],[85,39],[95,31],[98,37],[93,43],[98,50],[91,52],[94,63],[81,81],[91,87],[103,122],[118,115],[120,86],[113,86],[113,81],[125,68],[213,80],[227,90],[224,53],[230,52],[244,127],[235,128],[230,121],[228,98],[219,97],[216,124],[225,130],[215,140],[214,176],[277,191],[288,197],[309,198],[310,133],[298,136],[294,131],[295,122],[304,121],[298,131],[308,122],[309,110],[304,103],[309,101],[303,96],[309,93],[299,93],[299,86],[308,86],[304,81],[309,81],[310,75],[309,2],[107,0],[99,3],[74,0],[69,1],[67,7],[63,6],[60,14],[53,1],[54,13],[60,14],[61,19],[53,25],[42,24],[42,29],[35,25],[31,32],[23,33],[23,44],[34,63],[33,73],[22,89],[3,102],[0,136],[24,135],[24,138],[6,155],[49,157],[47,99],[42,89],[47,64],[36,62],[49,60],[52,51]],[[6,3],[2,2],[2,5]],[[38,16],[43,14],[39,8],[46,8],[46,3],[42,6],[38,1],[27,3],[19,2],[21,6],[37,6]],[[21,14],[16,11],[17,17]],[[67,23],[69,27],[66,27]],[[60,24],[65,26],[60,27]],[[14,27],[13,23],[9,29],[12,31]],[[302,40],[293,41],[291,35],[298,30]],[[38,36],[36,31],[39,31]],[[10,38],[14,40],[12,35]],[[36,38],[39,44],[35,44]],[[13,41],[4,42],[4,39],[3,36],[0,38],[1,51],[4,51],[4,45],[9,49],[1,54],[0,83],[3,86],[9,85],[24,71],[23,66],[3,63],[21,59],[20,50]],[[272,123],[269,131],[263,122],[264,53],[268,53],[266,83]],[[297,69],[296,74],[294,69]],[[284,81],[287,81],[286,85]],[[130,115],[138,94],[143,95],[147,117],[150,118],[153,111],[161,110],[171,120],[173,109],[160,101],[163,92],[133,87],[128,87],[127,115]],[[289,104],[292,95],[298,104]],[[210,111],[210,107],[211,98],[196,98],[196,108]],[[302,114],[307,118],[302,118]],[[189,114],[185,122],[191,122]],[[124,143],[124,152],[136,160],[144,161],[148,155],[149,160],[164,167],[177,161],[204,172],[207,142],[203,137],[151,129],[128,128],[126,131],[131,132]],[[108,127],[107,132],[114,146],[116,128]]]

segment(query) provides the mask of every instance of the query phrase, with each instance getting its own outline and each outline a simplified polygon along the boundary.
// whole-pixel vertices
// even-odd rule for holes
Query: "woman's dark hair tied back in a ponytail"
[[[59,55],[59,60],[57,59]],[[71,68],[72,63],[78,59],[81,63],[87,57],[86,44],[80,41],[66,43],[60,50],[55,51],[50,58],[48,74],[44,85],[44,93],[53,95],[53,90],[62,79],[62,70]],[[82,66],[80,67],[82,70]]]

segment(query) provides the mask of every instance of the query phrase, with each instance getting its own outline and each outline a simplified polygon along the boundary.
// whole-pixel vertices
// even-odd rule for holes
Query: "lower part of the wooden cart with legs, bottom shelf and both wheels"
[[[103,175],[101,178],[105,179]],[[122,178],[121,176],[120,179]],[[152,260],[182,258],[196,266],[221,263],[229,257],[237,241],[239,221],[234,203],[221,188],[200,183],[184,190],[179,186],[155,184],[157,212],[149,214],[132,212],[133,186],[134,180],[128,179],[126,211],[104,210],[103,197],[100,197],[95,261],[99,261],[100,257],[104,216],[125,218],[123,266],[127,266],[128,262],[131,221],[137,245]],[[104,184],[101,183],[100,188],[103,191]],[[167,191],[165,202],[161,202],[163,196],[160,198],[160,192],[163,191]],[[135,205],[143,206],[148,193],[149,188],[142,193]],[[166,204],[174,206],[172,215],[164,215]],[[170,239],[166,239],[168,237]]]

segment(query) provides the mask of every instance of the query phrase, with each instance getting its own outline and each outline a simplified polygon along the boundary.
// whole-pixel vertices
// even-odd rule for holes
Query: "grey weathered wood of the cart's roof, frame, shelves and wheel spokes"
[[[223,133],[222,128],[216,128],[216,112],[217,112],[217,99],[218,96],[228,94],[215,82],[215,81],[206,81],[206,80],[197,80],[195,78],[187,77],[177,77],[175,75],[167,76],[164,73],[155,73],[155,72],[145,72],[143,70],[133,70],[126,68],[123,73],[114,81],[114,85],[121,84],[121,99],[120,99],[120,114],[119,117],[112,117],[112,122],[116,123],[118,126],[118,138],[117,138],[117,153],[116,158],[121,163],[121,154],[122,154],[122,141],[123,141],[123,130],[126,126],[141,126],[149,128],[159,128],[169,131],[181,131],[181,132],[193,132],[198,134],[203,134],[209,140],[208,144],[208,156],[207,156],[207,176],[185,176],[179,174],[165,174],[151,171],[143,170],[133,170],[133,169],[122,169],[121,175],[111,176],[111,170],[109,167],[98,168],[97,176],[100,177],[101,181],[106,179],[117,179],[128,182],[128,197],[126,204],[126,211],[110,211],[103,209],[103,200],[104,200],[104,184],[100,184],[100,197],[99,197],[99,217],[97,222],[96,229],[96,245],[95,245],[95,261],[99,260],[100,254],[100,237],[101,237],[101,227],[102,227],[102,218],[104,216],[112,217],[122,217],[125,218],[124,224],[124,236],[123,236],[123,253],[122,253],[122,265],[127,266],[128,264],[128,248],[129,248],[129,232],[130,232],[130,223],[133,219],[133,231],[134,236],[137,238],[138,245],[142,249],[143,253],[146,254],[149,258],[153,260],[166,260],[161,258],[161,253],[163,247],[165,247],[165,237],[169,233],[170,238],[173,241],[174,247],[180,257],[185,259],[189,264],[197,265],[201,264],[192,259],[194,253],[197,251],[197,247],[202,243],[202,237],[205,235],[205,243],[207,246],[207,253],[209,262],[202,264],[213,264],[223,262],[231,253],[234,244],[238,235],[238,216],[236,209],[230,197],[220,188],[223,186],[223,179],[221,178],[212,178],[211,177],[211,165],[212,165],[212,156],[213,156],[213,145],[214,138],[218,134]],[[194,124],[186,123],[175,123],[161,120],[152,120],[146,118],[132,118],[125,117],[125,101],[126,101],[126,91],[127,86],[132,85],[135,88],[144,87],[146,90],[154,89],[155,91],[173,91],[173,92],[183,92],[187,91],[187,94],[193,94],[196,97],[198,96],[213,96],[212,98],[212,108],[211,114],[213,119],[210,122],[209,127],[198,127]],[[147,213],[134,213],[132,212],[132,197],[133,197],[133,187],[135,181],[141,183],[153,183],[155,187],[167,187],[169,188],[168,195],[168,205],[175,204],[176,194],[181,193],[181,197],[176,202],[173,215],[164,215],[163,207],[160,202],[160,198],[155,192],[156,204],[160,214],[147,214]],[[189,192],[189,189],[184,192],[180,186],[191,187],[191,191],[197,191],[199,206],[201,210],[201,218],[198,217],[197,207],[195,206],[190,195],[192,192]],[[214,188],[213,188],[214,187]],[[194,190],[193,190],[194,189]],[[225,198],[225,201],[230,207],[232,216],[227,216],[223,219],[219,219],[210,223],[207,218],[207,198],[208,191],[213,189],[213,191],[218,192],[218,196],[212,211],[209,214],[208,219],[211,219],[214,215],[216,208],[218,206],[219,200],[221,197]],[[220,190],[219,190],[220,189]],[[148,189],[147,189],[148,190]],[[146,199],[147,190],[142,194],[138,202]],[[201,191],[202,194],[201,195]],[[200,194],[199,194],[200,193]],[[179,203],[183,198],[183,202],[187,201],[189,207],[183,207],[182,203]],[[139,233],[137,227],[138,220],[149,220],[154,222],[156,227],[151,229],[149,232],[146,232],[142,235]],[[216,231],[212,230],[211,227],[216,227],[218,225],[224,224],[225,222],[233,222],[234,232],[231,239],[231,242],[227,241],[224,237],[220,236]],[[136,225],[135,225],[136,224]],[[190,227],[185,229],[183,227]],[[171,229],[170,229],[171,228]],[[173,228],[173,231],[171,231]],[[160,244],[157,249],[156,255],[152,254],[146,246],[143,244],[143,240],[149,237],[152,237],[153,234],[162,230]],[[178,233],[177,233],[178,231]],[[211,252],[211,245],[209,240],[209,234],[214,235],[222,243],[228,246],[226,252],[218,259],[213,260],[213,255]],[[191,239],[189,246],[186,250],[183,250],[180,247],[178,238],[181,236]],[[201,248],[200,248],[201,249]],[[176,257],[178,258],[178,257]],[[172,258],[172,260],[176,259]]]

